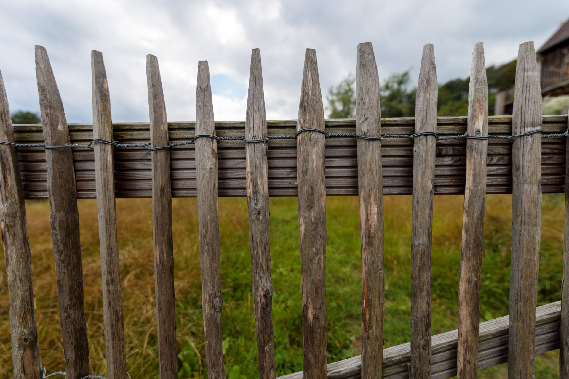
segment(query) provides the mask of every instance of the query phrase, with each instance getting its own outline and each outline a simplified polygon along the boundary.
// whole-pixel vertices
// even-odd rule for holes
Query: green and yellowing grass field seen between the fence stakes
[[[463,197],[435,196],[432,249],[432,332],[457,324]],[[511,195],[486,199],[481,320],[508,314]],[[562,195],[544,195],[538,305],[560,298],[563,250]],[[42,363],[64,370],[49,207],[28,201],[34,296]],[[270,200],[273,323],[277,376],[302,370],[302,294],[296,198]],[[196,199],[174,199],[174,257],[179,377],[206,377]],[[222,329],[230,379],[258,377],[257,345],[245,198],[220,199]],[[328,361],[360,353],[361,274],[357,197],[327,198]],[[133,379],[158,377],[150,199],[118,199],[119,249],[127,369]],[[106,375],[96,201],[80,200],[85,314],[92,374]],[[385,197],[385,347],[409,340],[411,197]],[[0,378],[11,378],[8,293],[0,260]],[[505,365],[481,378],[507,377]],[[558,376],[558,352],[536,359],[535,377]]]

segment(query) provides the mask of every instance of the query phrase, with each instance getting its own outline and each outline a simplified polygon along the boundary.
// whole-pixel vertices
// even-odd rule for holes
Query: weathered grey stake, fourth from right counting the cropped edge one
[[[424,45],[415,133],[436,131],[435,51]],[[413,199],[411,211],[411,379],[431,377],[431,241],[435,181],[436,138],[415,137],[413,147]]]

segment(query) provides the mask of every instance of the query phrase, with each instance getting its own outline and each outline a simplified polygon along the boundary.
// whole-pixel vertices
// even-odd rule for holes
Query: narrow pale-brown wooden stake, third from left
[[[102,53],[91,51],[93,138],[113,140],[109,84]],[[105,353],[109,379],[127,379],[125,327],[122,318],[121,272],[118,263],[117,209],[113,146],[93,144],[101,249]]]

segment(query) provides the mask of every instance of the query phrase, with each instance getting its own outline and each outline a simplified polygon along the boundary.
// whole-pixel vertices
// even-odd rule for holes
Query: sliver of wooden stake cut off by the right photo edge
[[[567,122],[569,128],[569,120]],[[569,143],[565,140],[565,161]],[[543,172],[543,169],[542,169]],[[561,282],[561,324],[559,326],[559,379],[569,379],[569,165],[565,165],[565,226],[563,230],[563,280]]]

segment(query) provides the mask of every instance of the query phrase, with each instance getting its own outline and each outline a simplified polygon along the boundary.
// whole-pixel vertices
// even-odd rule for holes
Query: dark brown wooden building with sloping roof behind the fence
[[[569,20],[537,51],[542,96],[569,94]]]

